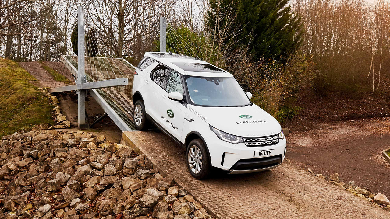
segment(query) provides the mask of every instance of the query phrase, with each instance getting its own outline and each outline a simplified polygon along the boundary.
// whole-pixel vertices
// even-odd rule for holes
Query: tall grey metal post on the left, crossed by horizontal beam
[[[78,6],[78,73],[77,84],[86,83],[85,80],[85,32],[84,32],[84,9],[83,6]],[[85,96],[87,90],[77,90],[78,96],[78,128],[89,129],[87,119],[85,117]]]

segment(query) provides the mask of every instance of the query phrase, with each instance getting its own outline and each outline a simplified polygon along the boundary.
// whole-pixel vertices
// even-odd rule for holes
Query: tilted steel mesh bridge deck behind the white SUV
[[[77,77],[78,57],[62,55],[61,61]],[[122,58],[85,57],[87,82],[128,78],[126,86],[90,89],[89,93],[122,131],[136,131],[133,122],[133,78],[135,67]]]

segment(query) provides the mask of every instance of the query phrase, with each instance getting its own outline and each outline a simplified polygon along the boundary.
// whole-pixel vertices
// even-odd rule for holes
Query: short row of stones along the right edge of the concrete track
[[[349,192],[355,194],[356,196],[359,196],[360,198],[366,199],[366,200],[370,201],[371,203],[376,203],[380,207],[384,208],[385,210],[390,211],[390,202],[386,198],[386,196],[382,193],[378,193],[378,194],[371,193],[367,189],[362,189],[362,188],[358,187],[355,184],[355,181],[350,181],[350,182],[348,182],[348,184],[346,184],[343,181],[340,182],[339,173],[334,173],[330,176],[324,176],[321,173],[317,173],[317,174],[314,173],[314,171],[312,171],[310,168],[307,168],[307,171],[309,173],[316,175],[319,178],[322,178],[322,179],[332,183],[333,185],[337,185],[337,186],[341,187],[342,189],[349,191]]]

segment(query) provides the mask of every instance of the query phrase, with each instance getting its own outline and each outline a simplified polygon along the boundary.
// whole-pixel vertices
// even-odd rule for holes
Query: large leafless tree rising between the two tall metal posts
[[[156,41],[160,16],[172,16],[174,0],[90,0],[88,21],[116,57],[133,56],[135,42]]]

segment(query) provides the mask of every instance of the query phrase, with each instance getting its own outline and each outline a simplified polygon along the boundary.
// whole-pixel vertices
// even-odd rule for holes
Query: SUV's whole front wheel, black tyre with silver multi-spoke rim
[[[191,175],[197,179],[204,179],[210,173],[210,158],[206,145],[201,139],[192,140],[187,147],[187,167]]]

